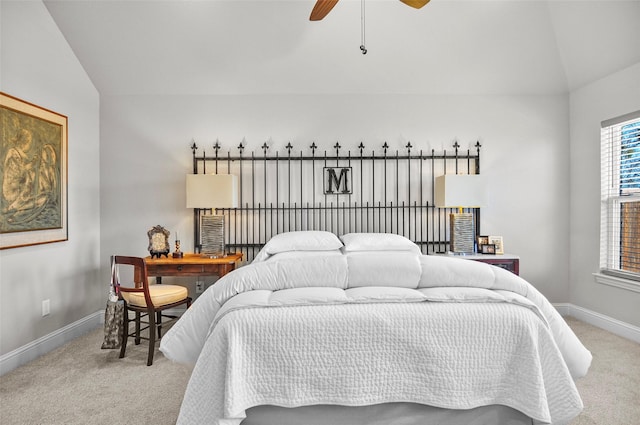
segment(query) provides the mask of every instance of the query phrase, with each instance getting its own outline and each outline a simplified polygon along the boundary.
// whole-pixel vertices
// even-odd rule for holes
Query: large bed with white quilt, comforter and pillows
[[[532,285],[393,234],[298,231],[161,340],[179,424],[569,423],[591,354]]]

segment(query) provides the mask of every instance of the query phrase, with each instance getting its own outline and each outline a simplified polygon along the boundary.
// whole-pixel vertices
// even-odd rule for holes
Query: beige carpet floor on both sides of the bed
[[[571,425],[640,424],[640,344],[568,318],[594,360],[577,382],[585,409]],[[189,367],[145,345],[101,350],[98,329],[0,377],[0,423],[175,424]]]

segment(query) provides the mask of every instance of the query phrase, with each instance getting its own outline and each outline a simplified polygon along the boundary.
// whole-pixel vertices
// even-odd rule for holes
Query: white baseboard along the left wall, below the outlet
[[[83,317],[48,335],[0,356],[0,376],[90,332],[104,323],[104,310]]]

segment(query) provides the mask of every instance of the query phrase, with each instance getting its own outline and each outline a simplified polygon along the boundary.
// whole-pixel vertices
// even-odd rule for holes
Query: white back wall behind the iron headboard
[[[483,144],[482,173],[491,183],[482,232],[504,237],[521,256],[521,274],[551,301],[568,300],[567,96],[102,96],[101,252],[145,255],[147,230],[160,224],[193,247],[184,195],[191,139],[247,151],[272,139],[299,151],[339,141],[368,149],[385,141],[403,149],[464,149]],[[106,279],[106,276],[104,276]]]

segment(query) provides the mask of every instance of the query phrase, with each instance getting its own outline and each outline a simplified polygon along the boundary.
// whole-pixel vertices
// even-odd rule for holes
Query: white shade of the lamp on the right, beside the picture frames
[[[446,174],[436,177],[435,204],[439,208],[486,206],[484,178],[479,174]]]

